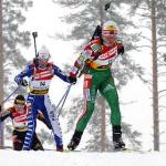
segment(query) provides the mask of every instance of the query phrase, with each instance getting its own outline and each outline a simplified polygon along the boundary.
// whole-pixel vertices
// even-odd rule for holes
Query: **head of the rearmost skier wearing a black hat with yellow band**
[[[14,98],[14,108],[17,112],[22,112],[24,111],[25,106],[25,98],[23,95],[17,95]]]

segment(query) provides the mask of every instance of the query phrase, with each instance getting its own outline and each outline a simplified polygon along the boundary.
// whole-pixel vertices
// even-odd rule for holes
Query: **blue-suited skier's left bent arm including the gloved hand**
[[[14,77],[14,81],[18,83],[18,85],[28,85],[27,81],[24,80],[25,76],[30,77],[33,74],[33,66],[28,65],[24,71],[22,71],[20,74],[18,74]]]

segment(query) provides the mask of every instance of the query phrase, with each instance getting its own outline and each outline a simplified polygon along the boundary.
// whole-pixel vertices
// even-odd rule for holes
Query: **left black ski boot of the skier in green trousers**
[[[75,133],[74,133],[74,135],[73,135],[71,142],[70,142],[69,145],[68,145],[68,148],[69,148],[70,151],[74,151],[74,149],[77,147],[77,145],[79,145],[80,141],[81,141],[82,134],[83,134],[82,132],[76,132],[76,131],[75,131]]]

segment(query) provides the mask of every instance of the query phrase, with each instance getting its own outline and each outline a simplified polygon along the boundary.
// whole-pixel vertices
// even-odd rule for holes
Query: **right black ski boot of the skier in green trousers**
[[[113,126],[113,145],[114,149],[125,149],[125,143],[122,139],[121,126]]]

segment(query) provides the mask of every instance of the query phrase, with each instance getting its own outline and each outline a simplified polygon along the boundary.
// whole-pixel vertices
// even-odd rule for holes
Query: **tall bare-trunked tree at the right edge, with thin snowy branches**
[[[166,0],[124,0],[131,6],[131,17],[138,15],[141,21],[138,27],[149,32],[149,35],[141,35],[152,54],[152,76],[149,79],[153,95],[153,128],[154,128],[154,151],[159,151],[159,111],[165,110],[165,42],[166,42]],[[144,20],[144,21],[143,21]],[[144,43],[145,43],[144,42]],[[163,114],[164,116],[164,114]],[[160,116],[163,118],[163,116]]]

